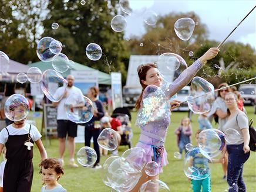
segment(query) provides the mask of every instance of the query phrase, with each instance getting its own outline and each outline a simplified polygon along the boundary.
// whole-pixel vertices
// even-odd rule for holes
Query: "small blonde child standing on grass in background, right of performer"
[[[180,154],[182,155],[183,149],[185,149],[185,152],[187,152],[187,149],[185,146],[188,143],[191,143],[191,135],[192,135],[192,128],[190,124],[190,119],[188,117],[184,117],[181,120],[180,126],[176,129],[174,132],[177,135],[177,145]],[[181,159],[181,156],[180,156]]]

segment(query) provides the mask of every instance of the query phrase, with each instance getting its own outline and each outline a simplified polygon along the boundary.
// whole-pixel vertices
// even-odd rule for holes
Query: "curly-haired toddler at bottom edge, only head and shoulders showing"
[[[39,167],[41,167],[40,174],[42,174],[42,181],[45,186],[42,187],[41,192],[66,192],[58,180],[62,174],[64,174],[63,168],[60,162],[55,158],[48,158],[43,160]]]

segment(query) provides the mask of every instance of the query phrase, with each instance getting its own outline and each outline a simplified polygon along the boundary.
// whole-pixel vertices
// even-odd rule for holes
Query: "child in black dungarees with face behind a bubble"
[[[22,102],[13,102],[10,111],[16,115],[23,113],[28,106]],[[21,115],[21,114],[19,114]],[[21,115],[22,116],[22,115]],[[24,115],[23,115],[24,116]],[[41,134],[36,126],[26,124],[26,118],[14,121],[0,132],[0,155],[6,146],[4,169],[4,190],[31,191],[33,179],[33,143],[38,146],[41,158],[47,158]]]

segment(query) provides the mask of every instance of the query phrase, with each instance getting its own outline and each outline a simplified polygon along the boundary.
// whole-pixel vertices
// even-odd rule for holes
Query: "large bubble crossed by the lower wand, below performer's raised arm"
[[[214,87],[211,83],[201,77],[194,77],[190,85],[190,96],[188,108],[196,114],[210,111],[215,99]]]

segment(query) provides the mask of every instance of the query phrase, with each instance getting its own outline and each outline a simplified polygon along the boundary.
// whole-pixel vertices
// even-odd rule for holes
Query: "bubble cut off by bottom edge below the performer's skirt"
[[[149,192],[149,191],[170,191],[170,188],[161,180],[152,179],[143,183],[140,187],[140,192]]]

